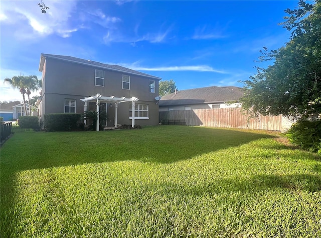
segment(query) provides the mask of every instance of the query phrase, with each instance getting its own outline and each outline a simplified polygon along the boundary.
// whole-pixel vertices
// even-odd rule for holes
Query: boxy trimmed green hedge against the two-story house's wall
[[[55,113],[44,115],[44,127],[48,132],[73,131],[78,128],[81,114]]]

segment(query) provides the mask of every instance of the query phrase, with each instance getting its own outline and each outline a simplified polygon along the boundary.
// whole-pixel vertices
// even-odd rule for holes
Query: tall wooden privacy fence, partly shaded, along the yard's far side
[[[263,116],[251,118],[239,107],[217,109],[193,109],[159,111],[159,122],[169,120],[185,120],[187,126],[203,126],[218,128],[240,128],[281,131],[282,116]]]

